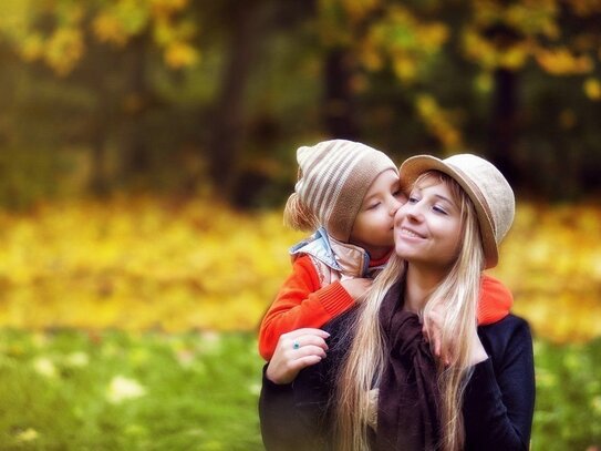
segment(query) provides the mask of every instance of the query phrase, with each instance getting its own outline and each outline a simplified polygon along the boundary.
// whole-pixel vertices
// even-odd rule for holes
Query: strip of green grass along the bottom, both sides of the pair
[[[0,449],[261,450],[256,349],[253,334],[2,330]],[[601,340],[535,351],[532,450],[599,447]]]

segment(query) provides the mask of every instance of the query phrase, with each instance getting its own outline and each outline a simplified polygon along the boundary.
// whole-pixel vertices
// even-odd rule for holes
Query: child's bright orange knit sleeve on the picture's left
[[[300,256],[261,321],[259,353],[270,360],[282,334],[301,327],[322,327],[353,305],[353,298],[339,281],[321,288],[311,257]]]

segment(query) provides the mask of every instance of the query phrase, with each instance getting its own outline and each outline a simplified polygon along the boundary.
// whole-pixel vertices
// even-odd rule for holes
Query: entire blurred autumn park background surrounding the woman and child
[[[330,137],[498,165],[532,448],[601,445],[601,1],[2,0],[0,64],[3,449],[260,449],[281,207]]]

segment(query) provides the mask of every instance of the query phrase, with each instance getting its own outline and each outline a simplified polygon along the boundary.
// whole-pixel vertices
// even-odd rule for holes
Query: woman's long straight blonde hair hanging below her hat
[[[484,250],[474,205],[460,186],[450,177],[427,172],[425,178],[438,177],[445,183],[457,205],[460,206],[464,235],[457,259],[448,274],[428,297],[424,318],[441,306],[444,312],[442,327],[443,349],[453,349],[450,365],[437,362],[441,389],[441,448],[445,451],[462,449],[464,427],[462,398],[469,380],[470,328],[476,327],[476,311],[484,269]],[[369,450],[367,438],[370,390],[379,387],[385,365],[384,337],[380,326],[380,307],[388,289],[405,277],[406,264],[393,255],[386,268],[377,276],[367,298],[361,304],[355,332],[349,353],[342,363],[338,390],[334,394],[336,450]],[[427,324],[426,324],[427,326]]]

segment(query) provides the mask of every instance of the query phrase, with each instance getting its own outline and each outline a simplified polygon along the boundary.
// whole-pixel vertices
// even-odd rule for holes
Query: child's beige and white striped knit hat
[[[301,230],[325,227],[348,243],[355,217],[373,181],[396,165],[365,144],[331,140],[297,151],[299,177],[284,221]]]

